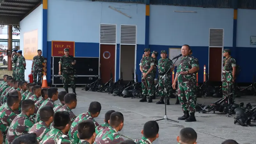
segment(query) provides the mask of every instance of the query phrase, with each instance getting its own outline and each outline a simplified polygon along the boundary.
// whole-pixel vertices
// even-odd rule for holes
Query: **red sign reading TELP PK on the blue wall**
[[[52,56],[63,56],[65,48],[69,49],[69,55],[75,57],[75,42],[69,41],[52,41]]]

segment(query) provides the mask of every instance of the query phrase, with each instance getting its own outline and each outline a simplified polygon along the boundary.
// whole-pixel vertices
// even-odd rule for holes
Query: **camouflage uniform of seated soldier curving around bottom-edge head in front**
[[[62,109],[62,108],[61,108]],[[90,119],[93,121],[93,123],[96,126],[99,126],[99,124],[92,118],[90,112],[82,113],[76,117],[74,122],[71,124],[70,130],[68,132],[68,136],[71,139],[71,141],[76,144],[79,142],[79,138],[77,137],[77,126],[80,122],[85,121],[87,119]]]

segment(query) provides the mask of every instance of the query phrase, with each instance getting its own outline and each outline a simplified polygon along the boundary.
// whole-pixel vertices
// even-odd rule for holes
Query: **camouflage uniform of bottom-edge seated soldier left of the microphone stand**
[[[116,129],[109,126],[96,136],[93,144],[118,144],[122,141],[124,139],[117,133]]]

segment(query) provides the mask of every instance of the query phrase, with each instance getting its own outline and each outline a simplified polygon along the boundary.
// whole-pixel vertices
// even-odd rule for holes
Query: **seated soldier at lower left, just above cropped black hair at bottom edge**
[[[5,143],[10,144],[18,136],[28,133],[34,125],[29,116],[34,114],[35,103],[33,100],[24,100],[21,103],[22,112],[14,118],[6,135]]]

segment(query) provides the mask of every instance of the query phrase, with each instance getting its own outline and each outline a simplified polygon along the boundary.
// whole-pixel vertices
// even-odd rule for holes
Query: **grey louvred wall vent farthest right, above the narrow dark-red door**
[[[223,29],[210,29],[209,46],[223,47]]]

